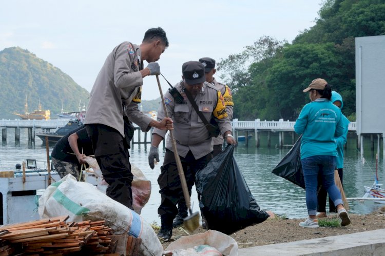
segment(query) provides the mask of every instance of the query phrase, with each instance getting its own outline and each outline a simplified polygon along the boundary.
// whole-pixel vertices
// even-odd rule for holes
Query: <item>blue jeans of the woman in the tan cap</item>
[[[309,215],[317,214],[318,173],[322,176],[322,186],[329,193],[335,206],[342,203],[341,193],[334,183],[336,157],[331,155],[314,155],[301,160],[305,179],[306,207]]]

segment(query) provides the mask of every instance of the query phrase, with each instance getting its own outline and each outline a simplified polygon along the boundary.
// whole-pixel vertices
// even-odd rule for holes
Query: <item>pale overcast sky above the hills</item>
[[[0,50],[28,49],[91,91],[115,46],[124,41],[139,45],[147,29],[160,26],[170,43],[159,60],[161,72],[176,84],[186,61],[212,57],[218,62],[263,35],[292,42],[314,26],[321,2],[2,0]],[[165,91],[163,78],[161,83]],[[145,77],[142,99],[157,97],[155,77]]]

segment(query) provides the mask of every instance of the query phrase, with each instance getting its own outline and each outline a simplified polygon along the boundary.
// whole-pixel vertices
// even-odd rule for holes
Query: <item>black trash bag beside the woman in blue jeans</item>
[[[301,164],[301,139],[302,135],[272,172],[304,189],[305,180]]]

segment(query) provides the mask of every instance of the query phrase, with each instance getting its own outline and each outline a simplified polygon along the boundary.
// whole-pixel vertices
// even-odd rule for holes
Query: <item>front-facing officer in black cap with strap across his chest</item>
[[[164,95],[165,104],[169,116],[174,121],[172,132],[177,142],[178,154],[181,157],[183,171],[191,194],[191,188],[195,182],[195,173],[203,168],[212,158],[213,139],[195,109],[188,101],[185,91],[189,91],[198,105],[199,111],[209,121],[214,116],[219,128],[226,137],[228,144],[235,144],[232,136],[232,126],[228,119],[224,100],[218,89],[205,82],[204,67],[200,62],[186,62],[182,66],[183,81],[175,88],[181,93],[184,101],[178,104],[169,92]],[[165,116],[163,107],[158,110],[158,120]],[[164,139],[166,131],[155,128],[152,131],[152,143],[148,162],[154,168],[154,159],[159,161],[158,145]],[[158,178],[161,193],[161,205],[158,213],[161,216],[161,229],[158,237],[169,240],[172,235],[172,220],[178,213],[177,202],[183,198],[178,168],[174,153],[172,152],[170,136],[166,141],[166,153]]]

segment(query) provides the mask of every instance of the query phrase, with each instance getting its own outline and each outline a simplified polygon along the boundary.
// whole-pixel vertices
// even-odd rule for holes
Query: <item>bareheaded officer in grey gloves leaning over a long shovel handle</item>
[[[132,208],[131,182],[133,175],[125,147],[123,115],[139,125],[142,131],[151,126],[172,129],[172,120],[161,122],[140,112],[143,77],[160,74],[156,61],[168,47],[162,28],[146,31],[140,46],[123,42],[107,56],[92,87],[85,126],[103,178],[108,183],[106,194]],[[148,66],[143,69],[143,61]]]

